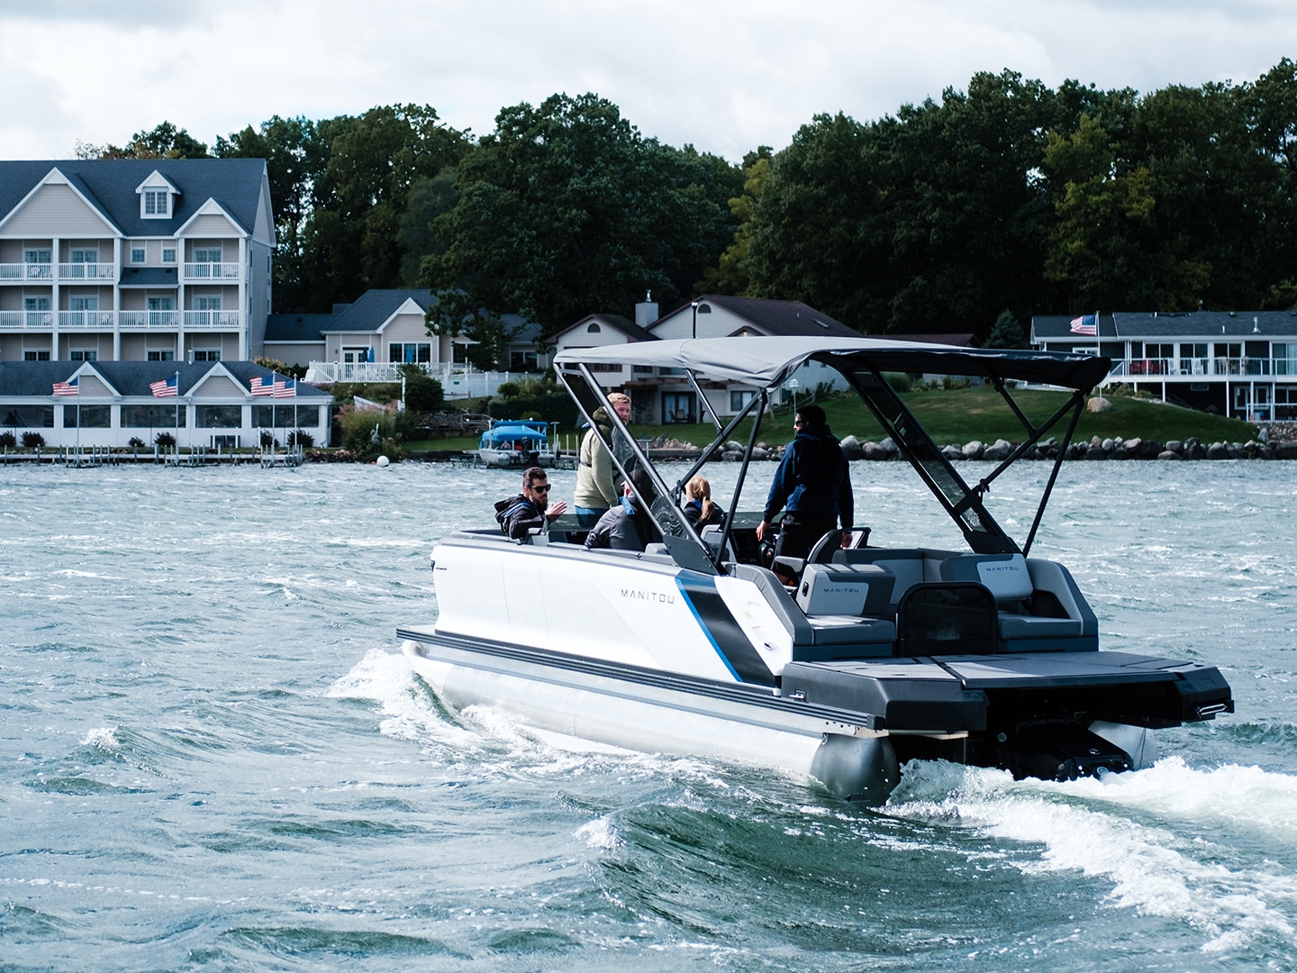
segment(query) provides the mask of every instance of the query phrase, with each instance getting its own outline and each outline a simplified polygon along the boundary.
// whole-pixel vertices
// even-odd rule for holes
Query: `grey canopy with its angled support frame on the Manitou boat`
[[[1010,538],[983,506],[983,497],[991,483],[1017,462],[1029,449],[1054,428],[1064,418],[1069,418],[1066,433],[1058,448],[1049,480],[1040,497],[1040,505],[1031,524],[1022,551],[1031,547],[1045,505],[1053,490],[1054,480],[1062,463],[1062,457],[1071,441],[1086,394],[1095,388],[1112,368],[1108,358],[1097,355],[1066,354],[1057,352],[1031,352],[1016,349],[956,348],[912,341],[892,341],[885,339],[812,339],[812,337],[721,337],[685,339],[678,341],[639,341],[629,345],[608,345],[603,348],[568,349],[559,353],[554,365],[559,378],[576,400],[588,420],[599,406],[607,405],[602,387],[590,366],[602,368],[608,365],[630,365],[654,368],[678,368],[689,376],[698,389],[698,380],[734,381],[754,385],[759,394],[747,407],[734,416],[724,428],[712,415],[717,427],[716,438],[708,445],[693,468],[680,483],[668,486],[638,444],[633,440],[625,424],[608,409],[613,426],[613,459],[625,474],[629,459],[634,455],[652,476],[659,499],[652,505],[654,520],[661,528],[668,549],[685,567],[681,559],[696,562],[699,554],[706,554],[713,570],[720,570],[719,558],[706,545],[699,545],[694,531],[678,515],[678,509],[671,499],[678,497],[681,486],[700,468],[734,428],[748,415],[755,415],[752,432],[743,457],[743,472],[751,461],[756,444],[757,429],[767,405],[774,393],[792,374],[807,362],[822,362],[843,375],[847,383],[860,394],[883,431],[892,437],[901,455],[909,461],[916,472],[927,484],[933,496],[942,503],[955,523],[964,532],[969,546],[979,554],[1018,551],[1018,545]],[[883,372],[917,372],[979,378],[990,383],[1004,398],[1009,409],[1022,423],[1023,442],[994,471],[970,486],[964,481],[940,448],[931,440],[927,431],[905,406],[900,396],[883,379]],[[1053,385],[1069,389],[1071,396],[1044,423],[1032,423],[1014,401],[1009,383],[1029,383],[1034,385]],[[704,396],[700,396],[706,398]],[[739,475],[734,498],[730,505],[729,523],[733,523],[734,507],[743,485]],[[728,527],[726,527],[728,531]],[[678,544],[687,541],[677,554]],[[702,547],[698,551],[695,545]],[[687,547],[687,550],[686,550]],[[721,544],[724,549],[724,542]]]

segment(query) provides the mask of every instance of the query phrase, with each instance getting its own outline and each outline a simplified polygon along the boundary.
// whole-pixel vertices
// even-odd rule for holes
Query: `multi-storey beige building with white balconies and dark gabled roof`
[[[262,353],[265,160],[0,162],[0,361]]]

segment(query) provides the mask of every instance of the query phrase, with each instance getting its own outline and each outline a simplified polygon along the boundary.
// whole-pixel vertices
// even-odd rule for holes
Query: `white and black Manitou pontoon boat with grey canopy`
[[[647,511],[663,544],[642,554],[586,550],[563,519],[524,544],[488,529],[442,538],[433,551],[437,619],[398,634],[414,669],[447,704],[495,706],[538,728],[636,750],[807,775],[873,803],[912,759],[1047,778],[1137,769],[1153,760],[1152,730],[1233,710],[1214,667],[1100,651],[1097,619],[1066,567],[1031,554],[1106,359],[870,339],[572,349],[555,365],[586,418],[606,402],[599,366],[613,362],[682,370],[703,402],[704,385],[717,381],[757,394],[737,415],[713,413],[713,442],[671,481],[612,418],[615,462],[633,455],[656,488]],[[773,397],[807,362],[842,374],[969,550],[877,546],[877,532],[843,547],[834,533],[804,562],[769,563],[755,533],[760,515],[742,509],[744,475]],[[1022,442],[978,483],[965,483],[886,372],[992,384],[1021,422]],[[1070,396],[1036,422],[1016,402],[1016,383]],[[699,535],[680,514],[684,484],[748,418],[725,523]],[[1019,546],[986,496],[1057,429],[1058,461]],[[795,584],[772,567],[792,571]]]

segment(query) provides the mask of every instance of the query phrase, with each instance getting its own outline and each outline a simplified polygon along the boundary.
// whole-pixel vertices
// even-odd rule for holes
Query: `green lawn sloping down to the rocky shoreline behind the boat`
[[[929,392],[908,392],[903,396],[920,422],[936,440],[938,445],[948,442],[965,444],[971,440],[994,442],[997,438],[1021,442],[1023,438],[1022,424],[1018,422],[990,387],[942,389]],[[1014,398],[1022,411],[1032,420],[1040,422],[1053,414],[1066,400],[1064,392],[1038,392],[1032,389],[1014,393]],[[1202,442],[1246,442],[1255,438],[1254,426],[1237,419],[1226,419],[1219,415],[1208,415],[1192,409],[1163,405],[1152,400],[1114,397],[1109,400],[1113,407],[1106,413],[1083,411],[1080,422],[1077,424],[1078,440],[1089,440],[1092,436],[1100,438],[1121,436],[1122,438],[1145,440],[1185,440],[1196,437]],[[829,426],[838,437],[853,435],[861,442],[878,440],[882,431],[873,416],[860,402],[852,397],[833,398],[822,402],[829,416]],[[744,423],[735,433],[735,438],[746,441],[751,423]],[[1054,427],[1051,435],[1062,436],[1066,431],[1066,419]],[[634,432],[641,438],[656,438],[667,436],[681,442],[691,442],[702,446],[711,442],[713,431],[711,424],[704,426],[634,426]],[[568,435],[575,440],[572,431]],[[792,438],[792,413],[789,409],[778,409],[773,416],[767,416],[761,423],[760,438],[767,442],[785,442]],[[436,440],[424,444],[410,444],[415,450],[457,450],[476,449],[477,437],[462,437],[455,440]]]

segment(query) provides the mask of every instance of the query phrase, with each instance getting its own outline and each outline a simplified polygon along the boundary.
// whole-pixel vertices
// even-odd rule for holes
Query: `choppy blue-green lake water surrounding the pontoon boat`
[[[1219,664],[1236,715],[866,810],[444,710],[394,628],[516,474],[0,467],[0,969],[1297,969],[1294,474],[1069,464],[1036,541],[1105,647]],[[1019,538],[1045,475],[992,496]],[[853,476],[875,542],[960,546]]]

